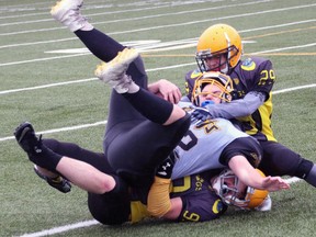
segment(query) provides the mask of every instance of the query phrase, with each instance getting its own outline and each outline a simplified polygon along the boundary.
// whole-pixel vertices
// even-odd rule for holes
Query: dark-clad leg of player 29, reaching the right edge
[[[294,176],[316,187],[315,163],[280,143],[260,142],[260,144],[263,148],[263,158],[259,168],[264,170],[266,174]]]

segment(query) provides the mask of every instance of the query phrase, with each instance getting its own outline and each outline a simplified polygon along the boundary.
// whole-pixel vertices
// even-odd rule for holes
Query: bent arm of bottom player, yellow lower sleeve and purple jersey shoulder
[[[191,179],[192,177],[190,180]],[[218,218],[226,211],[227,206],[219,196],[210,189],[206,179],[199,178],[198,180],[198,187],[193,185],[193,183],[196,184],[198,182],[192,181],[193,187],[190,184],[189,189],[191,190],[189,193],[182,193],[178,198],[170,199],[170,182],[166,182],[166,179],[156,177],[147,202],[149,213],[156,217],[178,222],[205,222]]]

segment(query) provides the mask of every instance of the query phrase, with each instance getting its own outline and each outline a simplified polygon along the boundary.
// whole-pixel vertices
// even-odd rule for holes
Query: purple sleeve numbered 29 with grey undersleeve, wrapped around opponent
[[[252,114],[270,98],[275,81],[272,63],[252,57],[240,63],[232,72],[236,97],[230,103],[207,105],[212,117],[236,119]]]

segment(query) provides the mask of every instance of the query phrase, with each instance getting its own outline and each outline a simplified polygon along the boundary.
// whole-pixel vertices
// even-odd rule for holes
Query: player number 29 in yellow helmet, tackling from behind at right
[[[185,76],[187,99],[194,99],[194,81],[202,72],[221,71],[230,76],[235,88],[232,102],[205,105],[208,117],[238,119],[242,129],[257,138],[263,149],[259,168],[266,174],[298,177],[316,187],[315,163],[278,143],[273,135],[271,90],[276,77],[272,63],[255,56],[242,60],[241,55],[241,38],[234,27],[215,24],[206,29],[196,47],[199,69]],[[207,117],[205,110],[201,113]]]

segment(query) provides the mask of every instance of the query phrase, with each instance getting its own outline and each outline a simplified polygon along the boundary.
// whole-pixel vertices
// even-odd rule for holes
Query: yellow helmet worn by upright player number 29
[[[208,68],[206,58],[218,57],[225,54],[226,61],[221,61],[219,66],[226,64],[225,69]],[[240,60],[242,55],[242,43],[238,32],[227,24],[215,24],[206,29],[199,38],[195,59],[201,71],[221,70],[223,74],[229,72]]]

